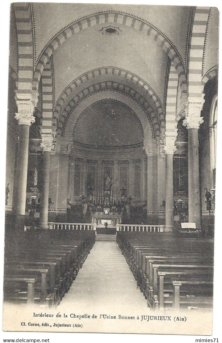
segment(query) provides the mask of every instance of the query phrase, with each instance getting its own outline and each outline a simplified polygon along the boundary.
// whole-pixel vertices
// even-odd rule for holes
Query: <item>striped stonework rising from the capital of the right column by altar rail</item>
[[[175,134],[177,125],[177,123],[175,122],[177,107],[177,87],[178,75],[174,65],[171,63],[166,92],[166,132],[170,135]]]

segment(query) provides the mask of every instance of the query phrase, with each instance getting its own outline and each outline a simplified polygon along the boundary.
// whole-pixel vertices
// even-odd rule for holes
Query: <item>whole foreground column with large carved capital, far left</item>
[[[30,96],[30,95],[29,95]],[[19,98],[20,97],[20,98]],[[16,95],[15,100],[18,108],[18,113],[15,114],[15,119],[19,124],[19,143],[17,150],[17,165],[14,179],[13,193],[13,213],[15,215],[16,227],[23,227],[25,216],[25,201],[26,201],[26,184],[27,184],[27,168],[28,168],[28,141],[29,128],[35,122],[33,116],[34,108],[37,104],[38,93],[33,93],[31,99],[27,99],[28,95]]]

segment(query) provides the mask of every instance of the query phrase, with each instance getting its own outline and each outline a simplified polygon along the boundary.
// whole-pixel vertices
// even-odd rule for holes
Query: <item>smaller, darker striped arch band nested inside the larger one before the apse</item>
[[[90,96],[94,94],[107,92],[107,91],[112,92],[112,94],[119,93],[119,96],[121,96],[122,98],[129,97],[134,102],[136,102],[140,106],[140,108],[143,110],[143,112],[146,115],[146,118],[148,119],[150,123],[151,129],[152,129],[152,137],[155,138],[156,136],[160,135],[159,123],[156,121],[156,116],[153,114],[152,108],[145,101],[145,99],[144,99],[145,103],[141,101],[140,94],[138,94],[135,91],[133,91],[133,94],[127,93],[125,85],[118,84],[118,87],[115,88],[115,87],[112,87],[111,82],[106,82],[106,81],[90,86],[89,88],[92,88],[92,87],[93,87],[92,92],[87,93],[88,88],[86,88],[85,90],[81,92],[81,95],[83,96],[80,96],[78,94],[66,106],[58,122],[58,131],[57,131],[58,135],[62,135],[62,136],[64,135],[69,117],[71,116],[73,110],[75,110],[75,108],[77,108],[83,100],[85,100],[86,98],[89,98]],[[101,95],[98,95],[98,96],[101,96]],[[112,95],[112,98],[113,98],[113,95]],[[144,104],[145,105],[147,104],[147,107],[145,107]]]

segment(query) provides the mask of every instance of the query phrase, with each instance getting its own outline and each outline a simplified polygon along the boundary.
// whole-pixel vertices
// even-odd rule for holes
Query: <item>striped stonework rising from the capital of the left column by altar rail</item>
[[[42,132],[52,132],[54,105],[54,81],[52,58],[46,63],[42,73]]]

